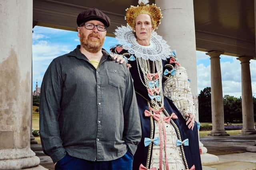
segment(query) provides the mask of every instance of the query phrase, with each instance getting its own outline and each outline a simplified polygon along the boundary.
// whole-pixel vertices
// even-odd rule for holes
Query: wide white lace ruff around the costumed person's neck
[[[128,53],[141,57],[144,60],[166,60],[170,58],[171,49],[162,36],[158,35],[155,31],[152,32],[150,45],[143,46],[138,44],[136,37],[129,25],[121,26],[115,29],[116,39],[128,50]]]

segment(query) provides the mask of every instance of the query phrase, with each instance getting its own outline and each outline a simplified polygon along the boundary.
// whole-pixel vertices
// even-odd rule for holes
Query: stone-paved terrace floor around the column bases
[[[256,152],[246,152],[246,148],[256,145],[256,135],[208,136],[200,141],[215,154],[220,162],[204,164],[203,170],[256,170]],[[54,164],[46,156],[40,144],[31,144],[31,149],[41,160],[40,165],[54,170]]]

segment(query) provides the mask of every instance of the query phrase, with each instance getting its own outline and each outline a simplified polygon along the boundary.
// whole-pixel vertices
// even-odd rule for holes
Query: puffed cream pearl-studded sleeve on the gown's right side
[[[176,74],[164,82],[164,96],[171,99],[186,119],[186,113],[196,113],[186,68],[176,66]]]

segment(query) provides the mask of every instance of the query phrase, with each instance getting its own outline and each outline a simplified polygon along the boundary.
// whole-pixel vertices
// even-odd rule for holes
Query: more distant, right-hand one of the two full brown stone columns
[[[242,134],[255,134],[253,100],[252,100],[252,81],[250,74],[250,59],[252,57],[239,57],[241,61],[241,82],[242,82],[242,115],[243,128]]]

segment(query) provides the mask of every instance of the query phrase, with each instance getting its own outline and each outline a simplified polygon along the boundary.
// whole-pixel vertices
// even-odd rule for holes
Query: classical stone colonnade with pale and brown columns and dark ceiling
[[[125,25],[125,9],[137,0],[0,0],[0,169],[42,169],[30,149],[32,28],[76,31],[79,12],[97,7],[110,16],[108,35]],[[152,0],[164,18],[157,32],[179,54],[197,101],[196,49],[211,59],[212,135],[227,135],[220,55],[238,57],[242,68],[242,133],[255,133],[250,60],[255,59],[256,0]],[[200,115],[199,115],[200,116]],[[198,117],[198,115],[197,115]],[[202,146],[202,144],[200,143]],[[202,147],[202,162],[218,161]]]

